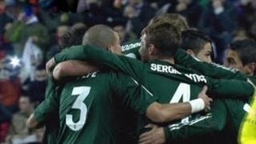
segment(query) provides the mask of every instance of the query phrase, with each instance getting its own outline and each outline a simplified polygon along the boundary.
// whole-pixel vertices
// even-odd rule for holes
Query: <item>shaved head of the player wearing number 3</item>
[[[82,45],[86,44],[106,48],[115,54],[122,54],[118,34],[109,26],[90,27],[82,39]]]

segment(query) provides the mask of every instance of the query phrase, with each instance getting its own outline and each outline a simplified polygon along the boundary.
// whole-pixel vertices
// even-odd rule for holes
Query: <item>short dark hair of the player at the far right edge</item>
[[[238,53],[243,65],[256,62],[256,41],[254,39],[234,41],[230,43],[230,50]]]

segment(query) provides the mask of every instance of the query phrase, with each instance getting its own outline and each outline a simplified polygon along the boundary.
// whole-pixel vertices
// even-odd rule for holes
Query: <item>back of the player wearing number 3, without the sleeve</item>
[[[67,82],[60,98],[60,143],[118,143],[110,74]]]

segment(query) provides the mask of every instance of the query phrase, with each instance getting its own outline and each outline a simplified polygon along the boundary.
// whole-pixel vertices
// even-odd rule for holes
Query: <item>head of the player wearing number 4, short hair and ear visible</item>
[[[139,50],[142,60],[154,58],[173,58],[178,50],[181,36],[175,26],[169,22],[161,22],[146,26],[142,30],[142,46]]]

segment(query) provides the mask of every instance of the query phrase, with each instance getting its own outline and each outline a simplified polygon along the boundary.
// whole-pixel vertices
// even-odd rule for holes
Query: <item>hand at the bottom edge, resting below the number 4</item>
[[[145,126],[146,128],[152,128],[139,136],[139,144],[162,144],[166,142],[166,136],[164,134],[163,127],[159,127],[154,124]]]

